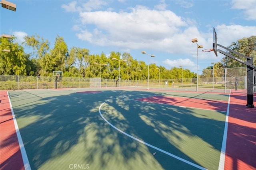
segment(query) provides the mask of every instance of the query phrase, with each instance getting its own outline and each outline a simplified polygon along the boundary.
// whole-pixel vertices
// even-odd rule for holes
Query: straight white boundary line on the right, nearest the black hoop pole
[[[227,135],[228,135],[229,105],[230,105],[230,95],[228,97],[228,108],[227,108],[227,114],[226,114],[226,121],[225,121],[225,128],[224,128],[223,139],[222,139],[220,162],[219,162],[218,170],[224,170],[224,166],[225,166],[226,144],[227,144]]]

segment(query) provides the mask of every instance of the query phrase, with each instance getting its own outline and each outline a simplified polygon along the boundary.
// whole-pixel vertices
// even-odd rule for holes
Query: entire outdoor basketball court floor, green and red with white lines
[[[1,169],[254,169],[256,113],[244,99],[244,92],[1,91]]]

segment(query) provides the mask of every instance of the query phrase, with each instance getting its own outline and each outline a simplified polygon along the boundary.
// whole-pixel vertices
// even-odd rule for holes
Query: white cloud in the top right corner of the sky
[[[245,20],[256,20],[256,1],[255,0],[232,0],[232,8],[244,10]]]

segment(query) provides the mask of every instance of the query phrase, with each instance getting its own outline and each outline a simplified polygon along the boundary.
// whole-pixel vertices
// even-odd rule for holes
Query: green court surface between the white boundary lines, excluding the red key
[[[84,91],[94,93],[76,93]],[[218,169],[226,111],[135,99],[227,103],[228,94],[118,89],[8,93],[33,170]]]

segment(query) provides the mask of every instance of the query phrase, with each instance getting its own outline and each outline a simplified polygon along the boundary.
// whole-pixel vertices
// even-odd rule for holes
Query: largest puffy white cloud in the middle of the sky
[[[80,21],[87,28],[92,26],[98,29],[98,32],[94,29],[86,30],[92,35],[90,43],[102,42],[98,44],[102,46],[126,45],[132,49],[152,47],[162,50],[163,45],[166,46],[172,36],[181,32],[180,27],[187,26],[186,22],[172,11],[150,10],[144,6],[136,6],[131,12],[81,12]],[[107,41],[94,41],[101,37]],[[88,41],[87,38],[80,38]]]

